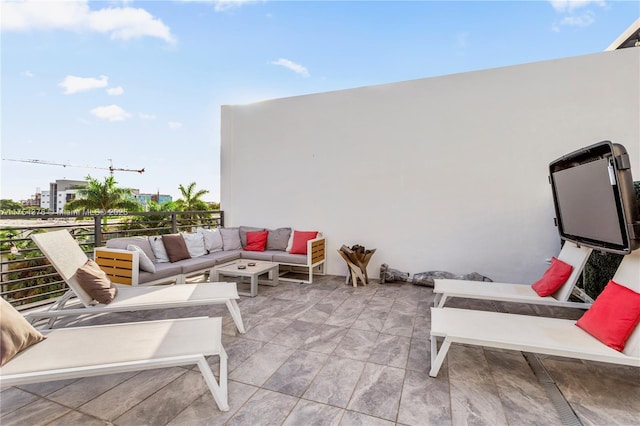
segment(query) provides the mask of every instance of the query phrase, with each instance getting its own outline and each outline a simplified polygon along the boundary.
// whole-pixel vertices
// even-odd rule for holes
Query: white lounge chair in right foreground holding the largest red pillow
[[[625,256],[613,280],[640,293],[640,250]],[[438,338],[444,338],[439,350]],[[431,308],[430,376],[438,375],[452,343],[640,367],[640,325],[618,352],[577,327],[574,320]]]

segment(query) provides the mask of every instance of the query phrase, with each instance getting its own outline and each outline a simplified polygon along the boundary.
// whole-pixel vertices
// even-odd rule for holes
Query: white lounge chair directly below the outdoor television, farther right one
[[[562,287],[550,296],[540,297],[530,285],[525,284],[507,284],[495,282],[477,282],[466,280],[434,280],[434,289],[436,297],[434,306],[438,308],[444,307],[447,299],[450,297],[463,297],[468,299],[495,300],[500,302],[516,302],[516,303],[532,303],[538,305],[562,306],[567,308],[588,309],[593,300],[586,294],[582,294],[582,298],[587,302],[570,302],[569,296],[574,290],[575,285],[580,278],[580,274],[587,263],[592,249],[587,247],[578,247],[574,243],[566,241],[558,259],[573,266],[571,275]]]

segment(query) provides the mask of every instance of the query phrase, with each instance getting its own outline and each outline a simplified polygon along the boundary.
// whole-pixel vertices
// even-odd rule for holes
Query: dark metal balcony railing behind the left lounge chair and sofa
[[[222,211],[25,214],[0,216],[0,296],[18,310],[52,303],[67,286],[31,240],[31,234],[67,229],[87,256],[117,237],[191,232],[224,226]]]

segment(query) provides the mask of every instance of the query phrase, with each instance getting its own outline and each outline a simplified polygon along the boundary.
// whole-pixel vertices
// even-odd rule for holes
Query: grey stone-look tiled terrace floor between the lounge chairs
[[[430,377],[433,298],[429,287],[377,280],[353,287],[326,275],[241,297],[244,335],[224,305],[66,319],[60,326],[222,317],[230,410],[218,410],[195,368],[174,367],[7,388],[0,423],[637,424],[633,367],[454,344]],[[568,319],[583,313],[469,299],[450,306]],[[218,371],[217,357],[211,363]]]

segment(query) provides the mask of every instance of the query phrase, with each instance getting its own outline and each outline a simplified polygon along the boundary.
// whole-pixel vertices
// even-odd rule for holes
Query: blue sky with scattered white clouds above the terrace
[[[1,153],[219,201],[220,106],[601,52],[638,1],[0,0]],[[579,70],[577,70],[579,72]],[[2,161],[0,198],[105,170]]]

